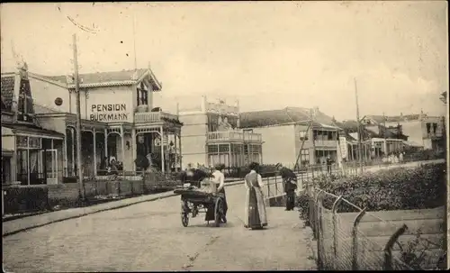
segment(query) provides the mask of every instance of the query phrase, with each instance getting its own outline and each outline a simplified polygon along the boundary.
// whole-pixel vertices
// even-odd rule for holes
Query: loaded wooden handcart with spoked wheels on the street
[[[175,189],[175,194],[181,195],[181,223],[184,227],[189,225],[189,214],[194,218],[199,213],[206,214],[205,221],[214,221],[216,227],[223,219],[224,201],[220,194],[205,193],[195,187]]]

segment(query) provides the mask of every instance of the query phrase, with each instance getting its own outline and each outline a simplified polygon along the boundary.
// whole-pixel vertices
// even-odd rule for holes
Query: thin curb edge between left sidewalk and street
[[[235,181],[235,182],[229,182],[229,183],[225,184],[225,187],[236,186],[236,185],[243,184],[243,183],[244,183],[243,180]],[[76,214],[76,215],[72,215],[72,216],[61,217],[61,218],[56,219],[56,220],[51,220],[51,221],[49,221],[47,223],[39,223],[39,224],[31,225],[29,227],[24,227],[24,228],[21,228],[21,229],[12,231],[12,232],[4,232],[2,237],[14,235],[14,234],[19,233],[19,232],[26,232],[26,231],[29,231],[29,230],[32,230],[32,229],[35,229],[35,228],[39,228],[39,227],[51,224],[51,223],[58,223],[58,222],[66,221],[66,220],[80,218],[80,217],[83,217],[83,216],[86,216],[86,215],[90,215],[90,214],[97,214],[97,213],[102,213],[102,212],[106,212],[106,211],[112,211],[112,210],[115,210],[115,209],[120,209],[120,208],[124,208],[124,207],[130,206],[130,205],[138,205],[140,203],[153,202],[153,201],[157,201],[157,200],[160,200],[160,199],[165,199],[165,198],[173,197],[173,196],[179,196],[179,195],[171,193],[171,194],[167,194],[166,196],[154,196],[152,198],[148,198],[148,199],[145,199],[145,200],[139,200],[139,201],[135,201],[135,202],[130,202],[128,204],[115,205],[115,206],[112,206],[112,207],[106,207],[106,208],[98,209],[98,210],[91,211],[91,212],[85,212],[85,213],[82,213],[82,214]],[[120,202],[120,201],[117,201],[117,202]],[[20,220],[20,219],[18,219],[18,220]],[[12,220],[12,221],[14,221],[14,220]]]

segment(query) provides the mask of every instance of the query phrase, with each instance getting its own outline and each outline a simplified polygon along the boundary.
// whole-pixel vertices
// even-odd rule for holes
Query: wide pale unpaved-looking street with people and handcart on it
[[[229,223],[180,221],[180,197],[130,205],[4,237],[4,268],[30,271],[314,269],[298,213],[267,208],[269,227],[241,221],[245,188],[227,187]]]

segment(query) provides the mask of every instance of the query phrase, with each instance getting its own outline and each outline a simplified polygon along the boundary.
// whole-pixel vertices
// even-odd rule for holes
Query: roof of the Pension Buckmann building
[[[66,75],[63,76],[42,76],[35,74],[38,77],[47,78],[49,80],[58,82],[68,88],[75,88],[72,79]],[[141,68],[137,70],[121,70],[110,72],[97,72],[79,74],[80,87],[98,87],[98,86],[129,86],[142,81],[148,77],[150,84],[154,91],[161,90],[161,84],[149,68]]]

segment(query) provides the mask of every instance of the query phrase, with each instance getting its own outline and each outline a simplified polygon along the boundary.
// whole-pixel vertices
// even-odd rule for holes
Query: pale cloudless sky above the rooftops
[[[2,4],[2,71],[151,67],[156,105],[238,99],[241,112],[320,108],[360,115],[446,114],[446,1]],[[59,8],[59,9],[58,9]],[[85,32],[72,23],[94,29]],[[135,22],[133,35],[133,17]],[[133,46],[136,41],[136,50]],[[136,53],[136,55],[135,55]],[[36,91],[34,91],[36,92]]]

